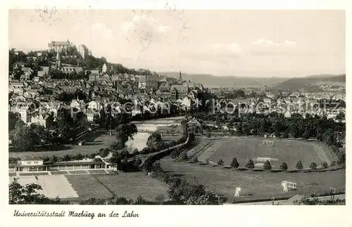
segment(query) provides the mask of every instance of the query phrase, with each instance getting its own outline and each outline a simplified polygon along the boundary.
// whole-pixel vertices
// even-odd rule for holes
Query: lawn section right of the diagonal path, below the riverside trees
[[[167,197],[166,183],[146,176],[142,172],[122,174],[94,175],[104,186],[109,188],[116,196],[137,199],[142,195],[146,200],[155,200],[157,195]]]

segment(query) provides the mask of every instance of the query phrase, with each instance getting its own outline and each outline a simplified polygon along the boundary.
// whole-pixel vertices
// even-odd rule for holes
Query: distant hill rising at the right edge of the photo
[[[311,75],[308,77],[298,77],[287,79],[286,81],[276,84],[275,89],[282,90],[297,90],[311,86],[320,85],[335,85],[335,86],[346,86],[346,74],[334,75],[334,74],[320,74]]]

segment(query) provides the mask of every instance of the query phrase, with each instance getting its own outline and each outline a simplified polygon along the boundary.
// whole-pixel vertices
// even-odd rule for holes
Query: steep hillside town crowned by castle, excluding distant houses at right
[[[68,55],[70,53],[74,54]],[[55,121],[63,103],[93,122],[108,105],[113,107],[113,113],[118,113],[122,109],[126,111],[122,105],[129,100],[132,116],[164,105],[187,110],[192,103],[197,103],[199,93],[206,92],[201,84],[182,80],[181,72],[179,78],[163,77],[142,69],[134,74],[121,73],[119,65],[106,60],[96,60],[100,65],[85,64],[85,58],[95,60],[88,54],[84,45],[72,51],[69,41],[52,41],[47,51],[36,53],[10,51],[13,62],[9,69],[9,110],[20,113],[25,124],[48,127],[52,123],[49,119]],[[75,61],[77,65],[63,63],[64,60]],[[87,66],[80,66],[80,63]],[[125,100],[124,103],[121,100]],[[53,118],[50,118],[52,113]]]

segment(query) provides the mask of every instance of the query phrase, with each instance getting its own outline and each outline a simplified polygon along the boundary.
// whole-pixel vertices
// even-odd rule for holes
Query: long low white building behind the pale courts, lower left
[[[24,158],[15,164],[9,164],[9,172],[64,171],[80,169],[111,169],[111,163],[101,157],[68,162],[43,162],[37,157]]]

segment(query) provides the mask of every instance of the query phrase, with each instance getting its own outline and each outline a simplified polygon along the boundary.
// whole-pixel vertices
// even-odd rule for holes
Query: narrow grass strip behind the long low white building
[[[111,143],[115,142],[115,136],[110,136],[108,132],[101,134],[94,138],[93,141],[87,142],[84,145],[65,145],[61,148],[52,148],[47,151],[30,151],[30,152],[11,152],[8,153],[8,157],[44,157],[56,155],[62,157],[64,155],[76,155],[81,153],[82,155],[89,155],[92,153],[98,153],[100,148],[109,148]]]

